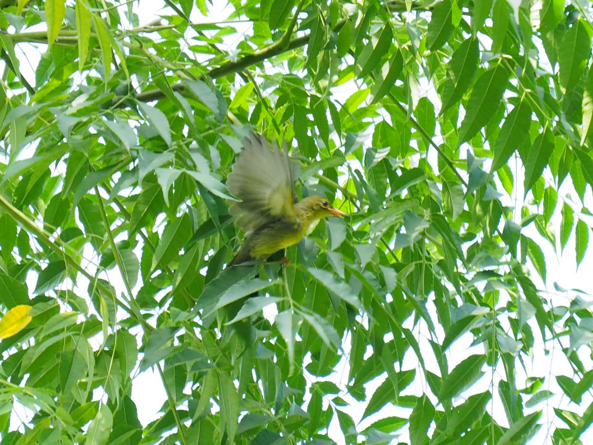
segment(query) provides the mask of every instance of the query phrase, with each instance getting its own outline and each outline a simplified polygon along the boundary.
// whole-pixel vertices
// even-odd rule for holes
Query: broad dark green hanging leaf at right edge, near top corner
[[[566,31],[560,42],[558,63],[560,85],[572,90],[581,81],[591,55],[591,26],[579,19]]]

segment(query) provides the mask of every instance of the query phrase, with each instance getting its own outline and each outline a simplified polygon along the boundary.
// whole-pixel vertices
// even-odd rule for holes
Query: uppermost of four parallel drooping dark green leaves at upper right
[[[466,39],[455,50],[447,65],[447,78],[442,95],[441,115],[460,101],[478,72],[480,49],[475,38]]]

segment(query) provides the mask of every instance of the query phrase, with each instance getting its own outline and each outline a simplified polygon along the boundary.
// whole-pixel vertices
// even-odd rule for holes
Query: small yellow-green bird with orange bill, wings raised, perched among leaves
[[[229,214],[245,231],[241,246],[228,266],[265,260],[279,250],[297,244],[311,225],[326,217],[346,217],[323,196],[298,199],[295,180],[299,166],[288,156],[283,143],[270,143],[250,132],[227,176],[227,189],[240,201],[229,201]]]

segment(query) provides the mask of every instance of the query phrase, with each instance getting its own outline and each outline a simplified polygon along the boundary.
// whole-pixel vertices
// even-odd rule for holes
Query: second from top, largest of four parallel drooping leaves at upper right
[[[498,110],[508,81],[509,74],[502,63],[484,72],[476,80],[470,100],[467,102],[466,117],[461,122],[459,144],[469,141],[490,122]]]

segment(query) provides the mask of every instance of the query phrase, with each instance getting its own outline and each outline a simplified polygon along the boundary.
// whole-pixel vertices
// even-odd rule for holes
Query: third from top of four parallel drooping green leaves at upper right
[[[525,128],[530,122],[531,107],[527,100],[521,100],[506,116],[500,132],[496,136],[492,155],[492,170],[490,171],[496,171],[505,166],[513,152],[521,147],[528,136]]]

